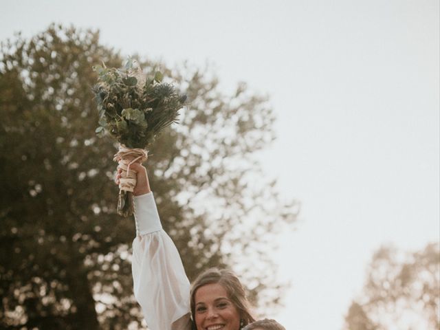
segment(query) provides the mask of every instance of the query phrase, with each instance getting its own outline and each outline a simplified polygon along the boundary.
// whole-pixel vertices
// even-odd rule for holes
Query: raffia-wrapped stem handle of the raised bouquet
[[[136,173],[130,170],[133,163],[146,161],[148,152],[142,148],[127,148],[119,146],[119,151],[113,157],[113,161],[118,162],[118,168],[122,170],[119,183],[118,214],[122,217],[129,217],[134,213],[133,190],[136,186]]]

